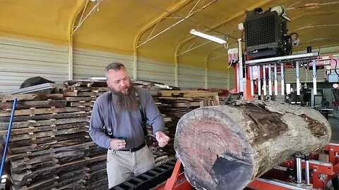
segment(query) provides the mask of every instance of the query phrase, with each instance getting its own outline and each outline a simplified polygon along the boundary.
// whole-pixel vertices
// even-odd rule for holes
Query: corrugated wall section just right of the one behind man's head
[[[174,86],[174,65],[146,59],[138,60],[138,79],[161,82]]]

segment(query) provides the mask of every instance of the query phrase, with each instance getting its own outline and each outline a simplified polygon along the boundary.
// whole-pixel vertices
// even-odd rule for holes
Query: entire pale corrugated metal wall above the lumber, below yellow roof
[[[133,57],[103,51],[73,50],[73,78],[104,77],[107,64],[124,63],[133,75]],[[67,46],[58,46],[27,39],[0,37],[0,92],[18,89],[29,77],[45,77],[59,84],[68,80],[69,54]],[[188,65],[178,67],[179,87],[203,88],[203,68]],[[230,87],[232,89],[232,73]],[[208,71],[208,87],[227,89],[227,74]],[[152,80],[174,86],[174,65],[138,59],[138,79]]]

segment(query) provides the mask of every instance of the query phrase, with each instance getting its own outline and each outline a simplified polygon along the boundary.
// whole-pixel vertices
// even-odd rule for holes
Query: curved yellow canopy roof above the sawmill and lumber
[[[289,32],[301,40],[294,50],[339,44],[339,1],[327,0],[4,0],[0,34],[75,48],[150,58],[165,63],[224,70],[227,48],[237,46],[245,10],[283,5]],[[80,27],[77,26],[81,23]],[[193,36],[191,29],[226,35],[227,46]],[[72,32],[76,30],[75,32]],[[72,34],[73,33],[73,34]]]

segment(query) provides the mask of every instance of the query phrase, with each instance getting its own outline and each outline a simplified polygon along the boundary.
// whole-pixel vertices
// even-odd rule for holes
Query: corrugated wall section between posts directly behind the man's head
[[[123,63],[133,76],[133,58],[115,53],[74,49],[73,51],[73,78],[105,77],[105,68],[109,63]]]

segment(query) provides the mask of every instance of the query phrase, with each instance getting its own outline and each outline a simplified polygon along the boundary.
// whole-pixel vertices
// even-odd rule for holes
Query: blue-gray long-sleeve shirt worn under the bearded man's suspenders
[[[146,89],[136,88],[136,91],[139,94],[147,122],[153,127],[153,132],[155,133],[159,130],[163,132],[165,121],[152,96]],[[140,146],[145,141],[140,110],[120,111],[117,113],[114,110],[113,103],[109,102],[109,96],[112,96],[112,94],[107,91],[105,94],[100,95],[94,103],[90,117],[90,129],[88,130],[90,137],[98,146],[110,148],[111,137],[105,134],[103,127],[111,129],[111,126],[109,126],[109,117],[111,117],[113,137],[126,137],[126,149]]]

